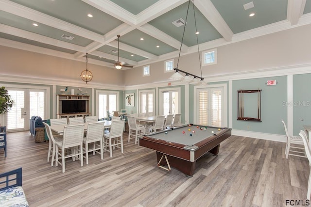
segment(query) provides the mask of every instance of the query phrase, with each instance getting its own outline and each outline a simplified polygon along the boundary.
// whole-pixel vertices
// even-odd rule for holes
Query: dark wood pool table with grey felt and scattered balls
[[[231,128],[183,125],[139,137],[139,145],[156,151],[158,166],[166,164],[192,176],[196,160],[210,152],[218,155],[220,143],[231,136]],[[161,159],[161,162],[159,162]]]

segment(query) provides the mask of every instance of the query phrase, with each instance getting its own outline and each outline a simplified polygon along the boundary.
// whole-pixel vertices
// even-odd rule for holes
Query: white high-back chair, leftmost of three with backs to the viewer
[[[67,125],[64,127],[63,140],[55,142],[55,166],[61,165],[63,173],[65,173],[65,159],[67,158],[80,159],[80,165],[83,166],[83,135],[84,124]],[[67,150],[65,154],[66,149],[70,150]],[[61,161],[59,161],[58,156],[61,157]]]

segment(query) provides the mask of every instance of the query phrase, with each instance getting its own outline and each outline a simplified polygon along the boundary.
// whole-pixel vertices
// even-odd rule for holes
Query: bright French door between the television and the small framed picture
[[[96,115],[98,118],[108,117],[108,111],[111,114],[112,111],[119,111],[119,92],[97,91],[96,94]]]

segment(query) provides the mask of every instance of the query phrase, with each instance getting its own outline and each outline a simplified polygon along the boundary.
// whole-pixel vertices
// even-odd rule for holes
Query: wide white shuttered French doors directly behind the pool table
[[[224,87],[198,88],[196,90],[196,123],[213,127],[224,127]]]

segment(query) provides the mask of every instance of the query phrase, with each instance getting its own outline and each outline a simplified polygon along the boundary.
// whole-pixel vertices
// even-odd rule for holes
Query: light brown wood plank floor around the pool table
[[[157,167],[155,151],[127,143],[127,133],[123,141],[123,154],[90,155],[83,167],[68,159],[62,173],[47,162],[48,143],[35,143],[29,132],[8,133],[0,173],[22,167],[30,207],[281,207],[307,199],[308,160],[285,159],[285,143],[231,136],[188,178]]]

